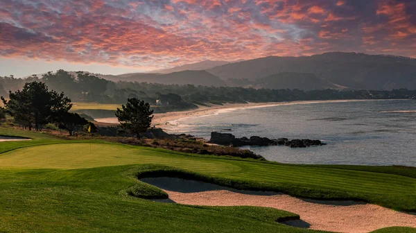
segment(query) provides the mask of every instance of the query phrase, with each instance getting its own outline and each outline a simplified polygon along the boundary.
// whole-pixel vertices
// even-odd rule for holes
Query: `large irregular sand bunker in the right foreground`
[[[169,200],[187,205],[272,207],[299,214],[287,225],[331,232],[372,232],[383,227],[416,227],[416,215],[354,201],[300,199],[282,193],[239,191],[215,184],[177,178],[145,178],[168,193]]]

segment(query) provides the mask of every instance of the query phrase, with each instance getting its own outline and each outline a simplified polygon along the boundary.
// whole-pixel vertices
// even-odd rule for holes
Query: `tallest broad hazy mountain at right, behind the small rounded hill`
[[[356,89],[416,89],[416,59],[363,53],[258,58],[207,69],[224,80],[260,80],[279,73],[315,74],[329,83]]]

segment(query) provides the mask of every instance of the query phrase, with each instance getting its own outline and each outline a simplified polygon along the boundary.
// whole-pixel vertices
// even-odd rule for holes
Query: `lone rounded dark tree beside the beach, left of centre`
[[[121,105],[122,109],[117,108],[116,116],[119,119],[121,128],[140,137],[141,132],[146,132],[150,128],[153,119],[153,110],[150,105],[139,101],[137,98],[128,98],[126,105]]]

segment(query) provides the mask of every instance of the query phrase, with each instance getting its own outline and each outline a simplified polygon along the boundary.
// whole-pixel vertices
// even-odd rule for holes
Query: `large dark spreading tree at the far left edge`
[[[29,130],[33,126],[37,131],[42,130],[42,126],[55,121],[72,107],[71,100],[63,92],[49,91],[44,83],[37,81],[26,83],[17,92],[9,91],[9,98],[7,101],[1,96],[6,112]]]

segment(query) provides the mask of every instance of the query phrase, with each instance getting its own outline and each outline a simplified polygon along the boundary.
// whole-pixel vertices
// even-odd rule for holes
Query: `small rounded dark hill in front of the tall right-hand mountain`
[[[315,74],[284,72],[260,78],[257,87],[268,89],[342,89],[340,85],[330,83],[315,76]]]

